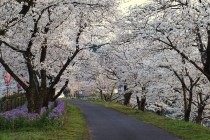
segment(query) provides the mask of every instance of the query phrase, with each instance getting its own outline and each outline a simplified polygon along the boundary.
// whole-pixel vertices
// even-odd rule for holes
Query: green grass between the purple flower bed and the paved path
[[[88,129],[80,110],[67,104],[65,116],[64,126],[58,130],[51,127],[4,130],[0,131],[0,140],[87,140]]]

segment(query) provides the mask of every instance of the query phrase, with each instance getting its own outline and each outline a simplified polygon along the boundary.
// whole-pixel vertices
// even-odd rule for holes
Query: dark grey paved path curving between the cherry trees
[[[68,100],[79,107],[87,121],[91,140],[180,140],[169,133],[111,108]]]

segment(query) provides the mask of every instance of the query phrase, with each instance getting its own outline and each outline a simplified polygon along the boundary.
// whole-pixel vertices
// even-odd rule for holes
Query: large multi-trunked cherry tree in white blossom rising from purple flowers
[[[0,63],[26,91],[29,112],[40,113],[62,93],[71,64],[96,42],[95,27],[114,15],[114,6],[106,0],[0,2]],[[56,85],[64,86],[53,95]]]

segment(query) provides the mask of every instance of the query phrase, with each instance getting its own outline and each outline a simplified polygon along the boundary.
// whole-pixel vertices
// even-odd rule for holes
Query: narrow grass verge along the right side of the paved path
[[[153,124],[184,140],[210,140],[210,130],[195,123],[172,120],[151,112],[142,112],[116,103],[101,101],[91,102],[113,108],[143,122]]]

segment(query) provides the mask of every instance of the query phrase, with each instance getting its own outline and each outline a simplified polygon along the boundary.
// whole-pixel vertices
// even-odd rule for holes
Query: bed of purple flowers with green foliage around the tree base
[[[0,129],[18,129],[22,127],[43,127],[47,124],[62,125],[64,102],[50,102],[48,109],[42,107],[41,113],[28,113],[27,104],[16,109],[0,113]]]

